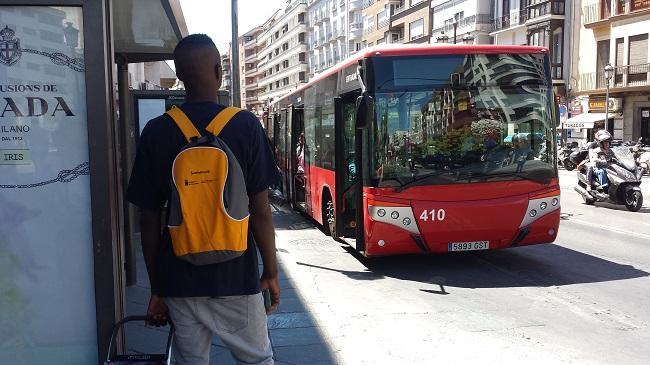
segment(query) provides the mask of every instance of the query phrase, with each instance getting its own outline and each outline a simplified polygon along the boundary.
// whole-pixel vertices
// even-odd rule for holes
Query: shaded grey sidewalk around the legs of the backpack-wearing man
[[[271,207],[275,214],[278,209]],[[142,315],[147,311],[149,281],[137,238],[137,284],[126,290],[127,315]],[[278,365],[334,365],[339,364],[332,346],[328,344],[317,321],[306,308],[305,301],[295,289],[294,280],[287,273],[278,255],[281,301],[279,309],[268,318],[269,337]],[[261,260],[260,260],[261,262]],[[260,267],[261,272],[261,267]],[[144,323],[126,326],[127,349],[132,353],[164,353],[167,328],[145,327]],[[225,345],[215,337],[212,342],[210,364],[235,365]]]

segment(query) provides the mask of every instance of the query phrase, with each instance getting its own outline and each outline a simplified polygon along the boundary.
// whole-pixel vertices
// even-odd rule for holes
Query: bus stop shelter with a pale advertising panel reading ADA
[[[127,65],[185,35],[178,0],[0,0],[0,363],[105,359],[129,279]]]

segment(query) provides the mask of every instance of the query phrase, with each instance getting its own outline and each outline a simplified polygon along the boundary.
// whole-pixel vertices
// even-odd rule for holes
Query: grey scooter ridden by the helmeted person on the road
[[[602,191],[598,181],[593,179],[591,191],[587,191],[587,167],[580,163],[578,169],[578,184],[574,190],[582,196],[585,204],[592,205],[595,202],[609,202],[617,205],[625,205],[631,212],[637,212],[643,205],[643,193],[641,192],[641,179],[643,168],[637,166],[634,156],[628,147],[614,147],[614,158],[607,167],[609,187]]]

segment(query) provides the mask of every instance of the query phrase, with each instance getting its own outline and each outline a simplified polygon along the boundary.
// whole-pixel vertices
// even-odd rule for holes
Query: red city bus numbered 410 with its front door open
[[[269,107],[279,189],[365,256],[553,242],[548,51],[378,46]]]

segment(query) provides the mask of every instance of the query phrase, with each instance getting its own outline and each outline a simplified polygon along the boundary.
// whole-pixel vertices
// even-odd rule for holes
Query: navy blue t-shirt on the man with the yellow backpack
[[[224,106],[201,102],[185,103],[180,108],[204,134]],[[248,111],[235,114],[219,138],[241,165],[249,196],[276,183],[278,171],[273,154],[255,115]],[[140,135],[127,200],[142,209],[163,209],[171,196],[174,158],[186,144],[187,140],[168,115],[149,121]],[[242,256],[224,263],[195,266],[174,255],[169,231],[164,229],[158,271],[160,287],[152,290],[163,297],[250,295],[260,291],[257,251],[250,230],[248,248]]]

